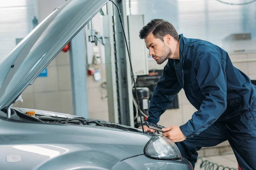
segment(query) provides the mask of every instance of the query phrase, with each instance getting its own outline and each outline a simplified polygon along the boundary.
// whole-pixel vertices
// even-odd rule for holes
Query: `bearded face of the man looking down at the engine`
[[[157,61],[157,64],[162,64],[172,55],[172,50],[167,45],[166,38],[164,38],[163,42],[150,33],[148,37],[145,38],[145,44],[149,50],[149,55]]]

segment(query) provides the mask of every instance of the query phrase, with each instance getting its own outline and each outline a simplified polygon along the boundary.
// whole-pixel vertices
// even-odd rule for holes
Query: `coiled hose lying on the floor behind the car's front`
[[[200,169],[204,170],[238,170],[238,168],[233,168],[233,167],[224,167],[223,165],[218,165],[216,163],[213,163],[209,160],[203,160],[202,158],[198,158],[198,161],[201,161],[202,163],[200,164]],[[197,161],[197,164],[199,163]]]

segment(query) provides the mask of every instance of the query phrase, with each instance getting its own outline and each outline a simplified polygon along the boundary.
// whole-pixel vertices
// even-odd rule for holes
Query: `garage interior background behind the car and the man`
[[[247,3],[250,0],[224,0]],[[233,65],[256,80],[256,3],[230,5],[217,0],[115,0],[123,16],[131,62],[138,87],[140,111],[136,109],[134,85],[122,27],[116,8],[107,3],[73,38],[37,79],[22,93],[23,102],[13,107],[31,108],[101,119],[131,127],[143,123],[149,100],[163,71],[139,39],[139,31],[151,19],[171,22],[179,34],[207,40],[228,51]],[[33,28],[65,0],[1,0],[0,58],[5,57]],[[134,24],[138,23],[138,24]],[[78,66],[79,65],[79,66]],[[197,111],[183,89],[160,117],[158,125],[180,126]],[[226,141],[202,148],[198,164],[209,161],[238,168]]]

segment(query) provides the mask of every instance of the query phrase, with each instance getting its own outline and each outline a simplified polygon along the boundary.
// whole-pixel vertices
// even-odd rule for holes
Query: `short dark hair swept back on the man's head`
[[[140,30],[140,39],[145,39],[151,32],[154,37],[159,38],[162,41],[163,37],[165,37],[167,34],[172,36],[176,41],[180,40],[179,34],[177,33],[174,26],[166,20],[151,20],[146,26],[144,26]]]

